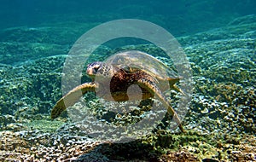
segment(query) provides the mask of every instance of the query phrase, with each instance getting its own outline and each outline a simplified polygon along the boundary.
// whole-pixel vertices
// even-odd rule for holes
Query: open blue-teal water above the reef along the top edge
[[[39,26],[60,21],[102,23],[136,18],[154,22],[173,35],[180,36],[223,26],[241,15],[255,14],[255,6],[253,0],[3,0],[0,6],[0,27]]]

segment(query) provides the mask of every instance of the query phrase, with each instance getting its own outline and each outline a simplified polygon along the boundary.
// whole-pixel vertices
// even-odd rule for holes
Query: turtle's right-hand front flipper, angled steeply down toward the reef
[[[174,121],[177,123],[179,129],[184,133],[185,130],[183,130],[183,125],[181,123],[181,120],[178,118],[177,113],[175,110],[170,106],[168,101],[166,100],[166,97],[161,93],[160,89],[157,87],[156,84],[154,84],[153,81],[141,78],[137,80],[137,84],[140,85],[142,88],[147,89],[152,95],[156,95],[158,99],[164,104],[164,106],[167,108],[167,112],[170,115],[173,115]]]

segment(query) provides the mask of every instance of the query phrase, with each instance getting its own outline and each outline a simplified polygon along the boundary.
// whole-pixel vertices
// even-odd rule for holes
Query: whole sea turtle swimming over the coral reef
[[[51,111],[52,119],[57,118],[67,107],[73,106],[89,91],[96,92],[108,101],[140,100],[137,92],[127,94],[131,85],[137,85],[141,89],[141,99],[155,96],[167,108],[167,112],[173,115],[174,121],[184,132],[177,113],[162,94],[170,88],[183,94],[175,85],[180,77],[153,56],[138,50],[123,51],[109,57],[107,61],[90,63],[86,73],[92,82],[80,84],[57,101]]]

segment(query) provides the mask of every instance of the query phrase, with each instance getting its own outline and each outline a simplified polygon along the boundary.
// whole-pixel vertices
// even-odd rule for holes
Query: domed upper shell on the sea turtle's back
[[[164,80],[166,78],[178,78],[177,72],[167,67],[166,64],[154,58],[152,55],[138,50],[119,52],[108,57],[106,62],[120,69],[125,69],[128,72],[139,69],[155,78]]]

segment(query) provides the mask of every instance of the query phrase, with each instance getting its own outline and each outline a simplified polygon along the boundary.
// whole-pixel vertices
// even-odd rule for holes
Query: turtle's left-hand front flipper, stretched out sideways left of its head
[[[95,83],[84,83],[73,90],[70,90],[67,95],[64,95],[57,103],[55,107],[51,110],[51,119],[55,119],[61,115],[61,113],[67,109],[67,107],[73,106],[77,101],[79,101],[80,97],[86,94],[89,91],[95,92],[97,84]]]

